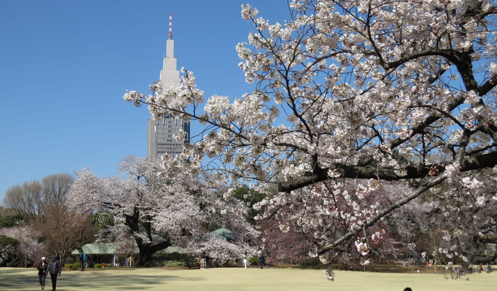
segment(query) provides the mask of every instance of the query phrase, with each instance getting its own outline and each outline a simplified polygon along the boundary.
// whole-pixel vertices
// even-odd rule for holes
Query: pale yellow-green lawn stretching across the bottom
[[[430,270],[431,271],[431,270]],[[320,270],[290,268],[211,268],[208,270],[86,269],[62,271],[58,291],[491,291],[497,290],[497,272],[469,275],[470,281],[446,280],[430,273],[372,273],[335,271],[329,282]],[[0,291],[41,290],[37,270],[0,268]],[[51,290],[47,278],[45,290]]]

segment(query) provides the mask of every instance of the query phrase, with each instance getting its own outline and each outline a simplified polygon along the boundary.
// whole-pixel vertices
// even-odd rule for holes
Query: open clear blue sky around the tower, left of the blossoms
[[[246,1],[289,19],[286,0]],[[15,184],[85,166],[111,176],[122,156],[146,155],[150,113],[122,96],[159,79],[169,13],[178,70],[206,98],[250,92],[235,51],[253,30],[243,2],[1,0],[0,204]]]

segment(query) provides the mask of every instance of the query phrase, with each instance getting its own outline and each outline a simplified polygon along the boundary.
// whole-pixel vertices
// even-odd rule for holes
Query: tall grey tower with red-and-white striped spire
[[[166,41],[166,56],[163,61],[160,80],[162,89],[175,87],[179,84],[179,71],[176,70],[174,57],[174,40],[172,40],[172,14],[169,14],[169,37]],[[174,134],[180,130],[186,132],[184,143],[190,139],[190,123],[181,117],[167,115],[160,120],[148,120],[147,156],[160,158],[165,153],[176,156],[181,153],[184,143],[178,142]]]

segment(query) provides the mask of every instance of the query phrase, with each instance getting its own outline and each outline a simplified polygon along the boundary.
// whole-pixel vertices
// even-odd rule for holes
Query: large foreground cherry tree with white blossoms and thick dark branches
[[[236,49],[251,93],[204,103],[182,70],[177,87],[124,95],[153,118],[205,125],[182,154],[164,155],[166,169],[212,171],[257,191],[277,185],[267,201],[289,207],[326,195],[330,208],[317,214],[337,215],[339,227],[302,214],[325,257],[350,240],[368,253],[379,230],[365,229],[417,197],[439,202],[459,232],[476,207],[495,213],[495,192],[482,188],[497,172],[494,0],[291,0],[289,10],[288,21],[270,23],[242,5],[254,31]],[[393,181],[415,187],[388,204],[367,199]],[[458,207],[461,198],[471,206]],[[342,208],[351,211],[340,217]]]

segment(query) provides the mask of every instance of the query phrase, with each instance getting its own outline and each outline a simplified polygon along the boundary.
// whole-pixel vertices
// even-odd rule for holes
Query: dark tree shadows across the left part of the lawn
[[[15,270],[0,268],[0,290],[36,290],[40,286],[38,271]],[[167,282],[184,280],[177,276],[152,275],[136,276],[132,273],[106,274],[106,272],[67,272],[57,278],[57,290],[107,290],[129,291],[157,288],[158,285],[167,287]],[[200,281],[202,278],[188,278],[189,281]],[[45,280],[46,290],[51,290],[50,275]]]

